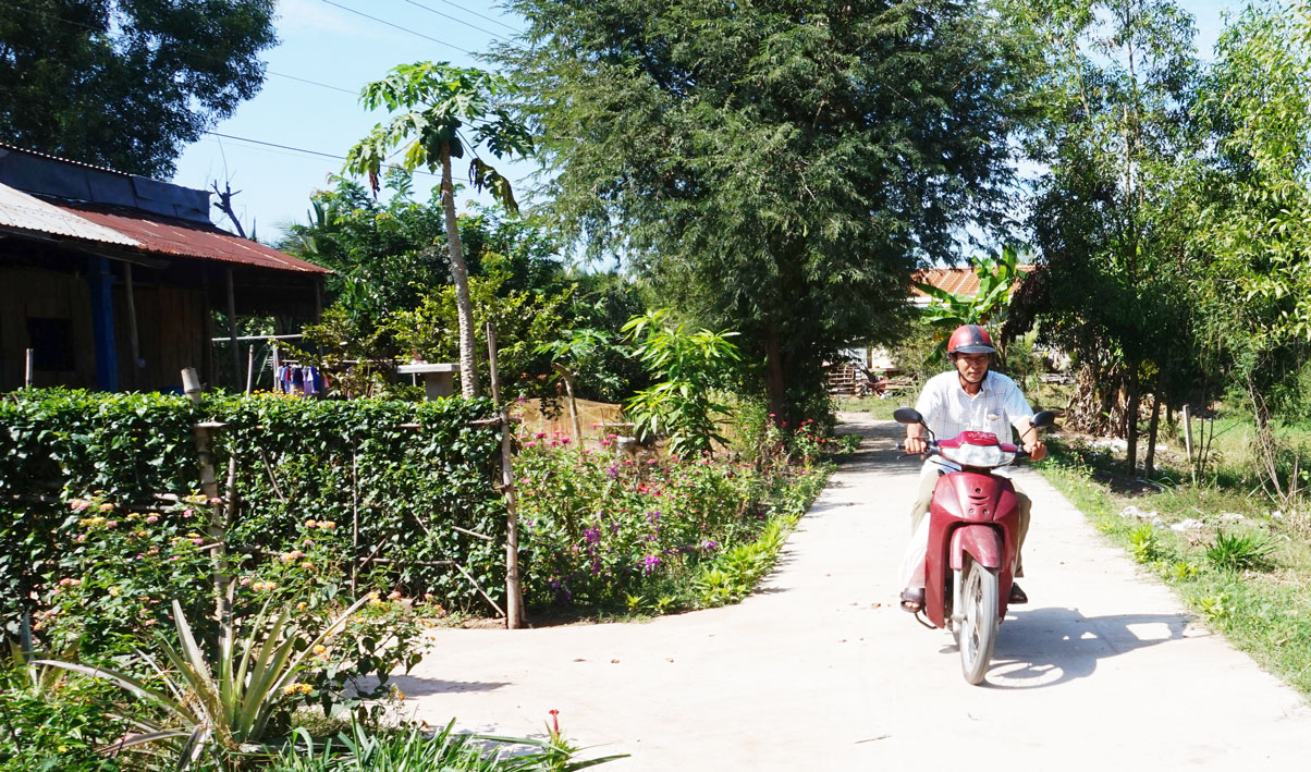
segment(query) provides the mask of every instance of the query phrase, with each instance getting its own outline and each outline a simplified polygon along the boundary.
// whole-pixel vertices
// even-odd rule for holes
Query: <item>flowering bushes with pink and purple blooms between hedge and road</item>
[[[569,438],[545,434],[522,438],[515,473],[530,603],[656,613],[703,604],[692,587],[700,566],[776,533],[772,519],[800,518],[827,478],[826,467],[789,465],[781,442],[755,464],[658,463],[615,452],[612,436],[599,452],[576,452]],[[750,554],[772,554],[776,541]],[[729,574],[735,590],[724,602],[751,590],[760,574]]]

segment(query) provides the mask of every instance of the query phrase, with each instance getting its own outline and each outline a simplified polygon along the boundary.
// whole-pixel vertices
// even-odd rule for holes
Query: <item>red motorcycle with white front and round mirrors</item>
[[[920,423],[912,408],[893,413],[898,423]],[[1055,413],[1033,415],[1032,431],[1051,426]],[[927,425],[924,425],[928,429]],[[905,448],[903,443],[897,443]],[[964,431],[952,439],[928,440],[928,452],[961,468],[937,478],[928,510],[928,543],[923,558],[928,627],[949,628],[961,651],[965,680],[978,684],[996,646],[1006,617],[1019,554],[1020,510],[1011,480],[992,469],[1029,457],[1023,448],[986,431]],[[918,619],[918,613],[916,613]]]

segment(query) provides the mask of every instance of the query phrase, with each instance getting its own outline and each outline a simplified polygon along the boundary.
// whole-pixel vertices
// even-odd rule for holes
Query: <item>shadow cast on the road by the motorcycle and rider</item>
[[[1183,613],[1086,617],[1074,608],[1013,611],[998,636],[987,685],[1033,689],[1087,678],[1103,659],[1183,640],[1189,621]]]

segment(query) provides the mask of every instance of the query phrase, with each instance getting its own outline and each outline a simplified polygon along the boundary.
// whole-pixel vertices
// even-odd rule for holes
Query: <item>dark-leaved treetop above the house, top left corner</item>
[[[274,0],[0,4],[0,139],[168,178],[264,83]]]

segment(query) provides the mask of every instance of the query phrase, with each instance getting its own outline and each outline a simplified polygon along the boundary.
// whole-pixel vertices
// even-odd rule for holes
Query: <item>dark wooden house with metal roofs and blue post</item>
[[[0,144],[0,391],[29,350],[37,387],[173,389],[184,367],[214,383],[239,316],[317,320],[330,271],[208,212],[203,190]]]

